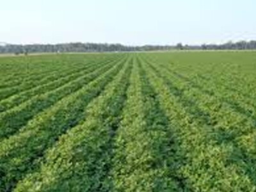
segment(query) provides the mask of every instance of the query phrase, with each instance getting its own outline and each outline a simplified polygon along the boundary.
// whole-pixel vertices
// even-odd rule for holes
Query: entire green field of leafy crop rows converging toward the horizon
[[[256,52],[1,57],[0,191],[256,191]]]

